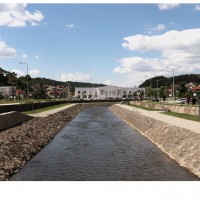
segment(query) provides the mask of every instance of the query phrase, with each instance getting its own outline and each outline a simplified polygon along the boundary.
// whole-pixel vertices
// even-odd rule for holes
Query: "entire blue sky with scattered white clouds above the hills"
[[[0,67],[127,87],[200,73],[199,19],[198,4],[1,4]]]

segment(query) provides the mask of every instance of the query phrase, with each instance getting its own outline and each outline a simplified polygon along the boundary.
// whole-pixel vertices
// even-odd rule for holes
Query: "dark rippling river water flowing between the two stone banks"
[[[180,167],[108,107],[77,115],[11,181],[187,181]]]

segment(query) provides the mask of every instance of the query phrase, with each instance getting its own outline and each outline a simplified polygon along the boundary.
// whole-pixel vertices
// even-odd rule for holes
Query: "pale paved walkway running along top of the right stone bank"
[[[164,111],[148,111],[148,110],[143,110],[143,109],[128,106],[128,105],[121,105],[121,104],[117,104],[117,105],[127,110],[137,112],[141,115],[145,115],[147,117],[168,123],[170,125],[185,128],[187,130],[194,131],[196,133],[200,133],[200,122],[164,115],[162,114]]]

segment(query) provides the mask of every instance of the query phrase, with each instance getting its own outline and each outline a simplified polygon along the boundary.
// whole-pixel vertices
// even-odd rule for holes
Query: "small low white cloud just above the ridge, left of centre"
[[[88,74],[81,74],[79,72],[76,73],[62,73],[61,74],[61,81],[80,81],[85,82],[90,80],[90,75]]]

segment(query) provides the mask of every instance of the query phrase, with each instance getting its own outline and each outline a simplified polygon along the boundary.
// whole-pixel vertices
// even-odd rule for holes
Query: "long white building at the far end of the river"
[[[122,99],[132,97],[134,92],[143,91],[145,88],[125,88],[117,86],[104,86],[104,87],[75,87],[75,98],[77,99]],[[139,95],[139,93],[138,93]]]

